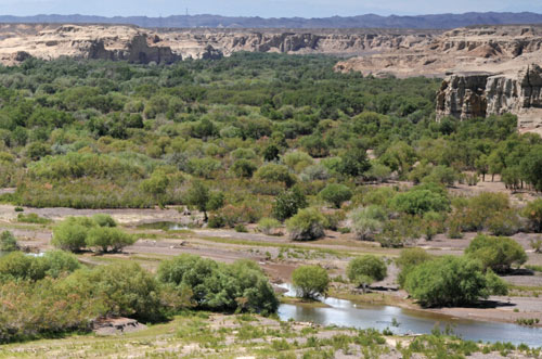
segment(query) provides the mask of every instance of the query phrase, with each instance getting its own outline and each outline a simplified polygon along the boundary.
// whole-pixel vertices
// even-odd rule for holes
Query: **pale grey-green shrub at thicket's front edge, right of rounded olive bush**
[[[386,210],[377,205],[358,208],[350,213],[350,221],[356,236],[361,241],[374,241],[385,221],[388,219]]]

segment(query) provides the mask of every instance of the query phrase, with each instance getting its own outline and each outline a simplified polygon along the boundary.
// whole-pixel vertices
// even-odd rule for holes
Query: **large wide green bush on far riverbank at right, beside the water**
[[[480,261],[444,256],[416,266],[404,289],[424,307],[473,305],[489,295],[505,295],[506,284]]]

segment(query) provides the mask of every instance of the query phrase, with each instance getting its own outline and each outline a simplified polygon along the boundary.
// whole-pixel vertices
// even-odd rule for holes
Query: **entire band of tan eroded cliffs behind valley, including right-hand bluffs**
[[[437,119],[511,112],[542,133],[542,26],[408,29],[146,29],[126,25],[1,24],[0,63],[34,56],[173,63],[237,51],[345,56],[338,72],[444,78]]]

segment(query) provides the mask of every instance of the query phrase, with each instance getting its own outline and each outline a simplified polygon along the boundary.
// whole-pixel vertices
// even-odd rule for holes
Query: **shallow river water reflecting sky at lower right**
[[[294,295],[292,287],[286,295]],[[542,329],[527,328],[508,323],[493,323],[448,316],[405,310],[390,306],[356,305],[349,300],[325,298],[327,308],[307,308],[283,304],[279,308],[282,320],[294,319],[322,325],[350,326],[358,329],[374,328],[383,331],[389,328],[395,334],[427,334],[436,324],[440,330],[452,326],[456,335],[464,339],[482,342],[525,343],[531,347],[542,346]],[[393,324],[398,326],[393,326]]]

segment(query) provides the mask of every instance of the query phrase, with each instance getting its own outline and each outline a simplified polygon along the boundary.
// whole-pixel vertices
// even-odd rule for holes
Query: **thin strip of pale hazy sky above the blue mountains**
[[[542,13],[542,0],[0,0],[1,15],[85,14],[146,15],[220,14],[229,16],[382,15],[531,11]]]

